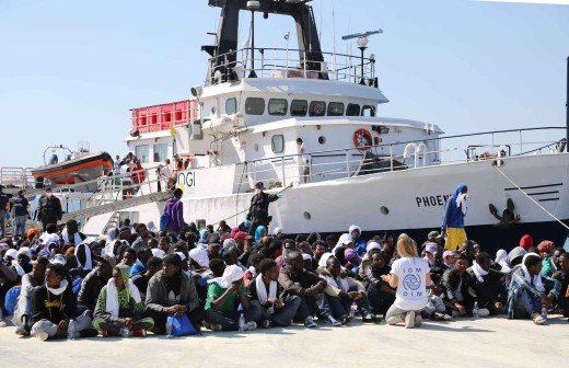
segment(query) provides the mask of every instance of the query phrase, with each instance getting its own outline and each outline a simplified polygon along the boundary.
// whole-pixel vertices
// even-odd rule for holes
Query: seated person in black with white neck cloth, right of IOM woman
[[[476,255],[472,267],[466,269],[476,286],[476,301],[478,302],[480,317],[502,313],[507,299],[503,284],[504,274],[492,269],[490,267],[491,261],[490,254],[480,252]]]

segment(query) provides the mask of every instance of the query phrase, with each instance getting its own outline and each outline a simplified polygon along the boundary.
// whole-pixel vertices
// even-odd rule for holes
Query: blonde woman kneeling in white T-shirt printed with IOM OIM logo
[[[432,281],[427,261],[417,254],[417,245],[413,239],[402,234],[397,241],[397,252],[402,258],[392,265],[390,275],[382,279],[391,287],[397,287],[395,302],[385,314],[387,324],[405,322],[411,329],[421,324],[420,311],[427,306]]]

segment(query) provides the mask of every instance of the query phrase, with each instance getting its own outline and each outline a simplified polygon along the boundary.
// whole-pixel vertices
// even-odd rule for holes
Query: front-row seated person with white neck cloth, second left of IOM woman
[[[365,297],[363,285],[352,277],[346,276],[340,267],[338,258],[330,256],[326,261],[325,268],[318,268],[318,274],[326,279],[326,299],[329,313],[334,319],[340,320],[341,324],[351,322],[351,304],[356,301],[363,322],[372,322],[370,304]],[[322,308],[321,308],[322,312]]]

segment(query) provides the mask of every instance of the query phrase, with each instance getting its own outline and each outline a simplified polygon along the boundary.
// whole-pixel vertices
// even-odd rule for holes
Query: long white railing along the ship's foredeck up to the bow
[[[243,170],[237,169],[236,172],[239,174],[235,177],[240,184],[243,184],[244,177],[249,177],[253,183],[260,181],[268,188],[274,188],[286,187],[291,182],[322,182],[353,175],[359,176],[456,162],[560,153],[567,152],[565,138],[560,140],[541,140],[536,138],[539,138],[537,136],[541,131],[550,133],[557,130],[562,131],[565,135],[565,127],[510,129],[369,146],[365,149],[373,157],[368,156],[368,158],[365,158],[365,152],[361,148],[279,156],[242,163],[246,165],[246,175],[242,174]],[[524,140],[522,137],[523,133],[530,133],[534,139]],[[502,135],[512,134],[518,136],[516,140],[501,140]],[[462,145],[453,145],[453,140],[462,140]],[[476,145],[473,145],[473,140],[476,140]],[[441,146],[445,147],[441,148]],[[307,160],[304,161],[303,157],[307,157]],[[247,192],[251,191],[252,186],[240,185],[240,187]]]

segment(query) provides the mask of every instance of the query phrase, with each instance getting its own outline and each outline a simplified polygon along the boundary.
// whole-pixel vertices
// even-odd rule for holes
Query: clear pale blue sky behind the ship
[[[330,51],[332,3],[313,1]],[[450,135],[565,125],[569,5],[334,4],[338,51],[341,35],[384,31],[368,50],[391,100],[381,116],[436,123]],[[187,99],[204,81],[200,46],[211,43],[206,32],[218,16],[207,0],[0,1],[0,166],[36,166],[45,147],[79,140],[125,153],[129,108]],[[294,31],[286,18],[256,24],[257,47],[284,47]]]

